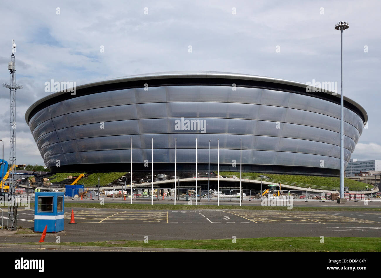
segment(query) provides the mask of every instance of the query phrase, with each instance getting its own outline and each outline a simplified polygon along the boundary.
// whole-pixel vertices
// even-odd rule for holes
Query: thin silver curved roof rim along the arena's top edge
[[[139,74],[139,75],[130,75],[126,77],[118,77],[114,79],[94,82],[94,83],[88,83],[84,85],[77,86],[77,91],[80,89],[85,89],[89,87],[99,86],[99,85],[107,85],[112,83],[121,83],[121,82],[128,82],[128,81],[139,81],[139,80],[153,80],[153,79],[161,79],[161,78],[226,78],[226,79],[242,79],[242,80],[251,80],[251,81],[264,81],[264,82],[272,82],[272,83],[279,83],[284,85],[290,85],[290,86],[296,86],[301,88],[306,88],[306,84],[290,81],[290,80],[284,80],[284,79],[278,79],[278,78],[272,78],[272,77],[265,77],[265,76],[259,76],[259,75],[250,75],[250,74],[242,74],[242,73],[231,73],[231,72],[214,72],[214,71],[177,71],[177,72],[155,72],[155,73],[146,73],[146,74]],[[116,82],[117,81],[117,82]],[[317,88],[312,86],[311,88]],[[25,120],[26,123],[29,125],[29,115],[30,113],[37,107],[37,105],[42,104],[43,102],[53,99],[54,97],[60,96],[62,94],[66,94],[67,92],[57,92],[50,94],[48,96],[45,96],[41,99],[38,99],[36,102],[34,102],[25,112]],[[322,93],[327,93],[330,95],[333,95],[334,92],[332,91],[325,91]],[[336,95],[333,95],[340,99],[340,94],[337,93]],[[357,102],[353,101],[352,99],[349,99],[348,97],[344,96],[344,101],[349,102],[350,104],[357,107],[360,112],[363,113],[364,121],[368,121],[368,113],[365,111],[365,109],[358,104]]]

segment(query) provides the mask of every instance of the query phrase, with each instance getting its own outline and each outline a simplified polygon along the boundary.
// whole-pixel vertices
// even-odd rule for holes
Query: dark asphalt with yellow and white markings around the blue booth
[[[77,224],[67,224],[61,242],[107,240],[197,240],[276,236],[379,237],[381,212],[257,211],[241,209],[128,210],[74,208]],[[19,210],[18,225],[34,226],[34,212]],[[0,243],[35,242],[38,236],[4,235]],[[56,242],[47,236],[45,242]]]

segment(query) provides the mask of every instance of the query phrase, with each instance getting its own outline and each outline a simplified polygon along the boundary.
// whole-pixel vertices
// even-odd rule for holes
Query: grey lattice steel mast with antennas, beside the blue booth
[[[16,53],[16,43],[12,40],[12,55],[11,61],[8,63],[8,70],[11,74],[10,84],[3,84],[5,88],[10,89],[10,143],[9,143],[9,197],[12,200],[11,205],[8,209],[8,222],[7,228],[11,231],[16,230],[16,217],[17,217],[17,205],[15,202],[15,192],[16,192],[16,90],[21,89],[22,85],[16,84],[16,67],[15,67],[15,57]]]

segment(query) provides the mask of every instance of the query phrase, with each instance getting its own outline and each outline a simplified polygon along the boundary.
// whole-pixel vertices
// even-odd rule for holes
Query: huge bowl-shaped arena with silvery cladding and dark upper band
[[[32,104],[25,118],[46,166],[53,171],[126,170],[132,137],[134,169],[178,169],[338,175],[340,96],[306,92],[287,80],[221,72],[136,75],[53,93]],[[367,113],[344,97],[344,163]],[[187,122],[189,121],[189,122]],[[102,128],[104,123],[104,128]],[[190,123],[188,126],[187,123]],[[60,167],[56,167],[59,160]],[[236,165],[234,165],[236,163]],[[150,165],[149,165],[150,167]]]

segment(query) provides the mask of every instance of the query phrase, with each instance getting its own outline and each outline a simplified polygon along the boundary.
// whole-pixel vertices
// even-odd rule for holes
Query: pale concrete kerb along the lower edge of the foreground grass
[[[241,250],[213,250],[213,249],[182,249],[182,248],[144,248],[144,247],[113,247],[113,246],[77,246],[77,245],[34,245],[34,244],[4,244],[0,247],[15,248],[42,248],[42,249],[80,249],[80,250],[110,250],[110,251],[146,251],[146,252],[253,252]],[[261,252],[261,251],[257,251]]]

